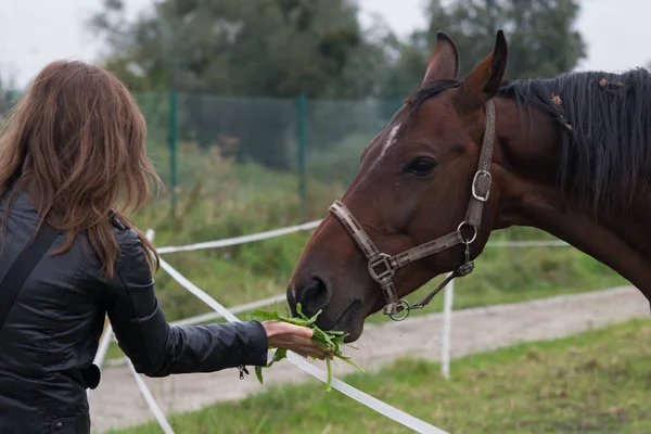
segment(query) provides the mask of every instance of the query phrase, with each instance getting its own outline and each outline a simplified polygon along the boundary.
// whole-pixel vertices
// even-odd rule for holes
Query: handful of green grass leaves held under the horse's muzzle
[[[366,372],[362,368],[355,365],[350,360],[350,357],[346,357],[342,354],[340,345],[346,345],[350,348],[358,349],[352,345],[344,344],[344,337],[346,337],[346,334],[344,334],[344,332],[323,331],[323,330],[319,329],[319,327],[317,327],[317,324],[315,324],[315,321],[317,320],[319,315],[321,315],[321,310],[319,310],[314,317],[307,318],[305,316],[305,314],[303,314],[303,311],[301,310],[301,304],[298,304],[298,305],[296,305],[296,312],[298,314],[298,317],[284,316],[284,315],[281,315],[278,311],[278,307],[276,307],[273,311],[259,310],[259,309],[255,310],[252,314],[250,314],[247,316],[247,318],[250,320],[260,321],[260,322],[261,321],[284,321],[284,322],[289,322],[289,323],[295,324],[295,326],[307,327],[312,330],[312,340],[316,341],[317,343],[319,343],[321,345],[321,347],[323,348],[323,350],[326,350],[326,352],[330,350],[334,357],[344,360],[346,363],[354,366],[355,368],[359,369],[362,372]],[[277,361],[280,361],[286,357],[288,357],[288,350],[285,348],[277,348],[276,353],[273,354],[273,357],[271,358],[271,361],[268,365],[266,365],[265,367],[255,367],[255,374],[256,374],[258,381],[260,382],[260,384],[263,384],[263,368],[270,368],[273,363],[276,363]],[[316,359],[316,357],[311,357],[311,358],[312,358],[312,360]],[[326,383],[326,391],[330,392],[332,388],[331,387],[331,385],[332,385],[332,367],[330,363],[330,358],[328,358],[328,357],[326,358],[326,363],[328,367],[328,382]]]

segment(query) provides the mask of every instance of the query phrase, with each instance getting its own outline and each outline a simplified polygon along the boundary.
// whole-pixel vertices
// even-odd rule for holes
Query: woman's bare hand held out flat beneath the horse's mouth
[[[312,341],[312,331],[307,327],[294,326],[284,321],[264,321],[269,346],[291,349],[303,357],[312,356],[321,360],[332,355],[323,352],[321,346]]]

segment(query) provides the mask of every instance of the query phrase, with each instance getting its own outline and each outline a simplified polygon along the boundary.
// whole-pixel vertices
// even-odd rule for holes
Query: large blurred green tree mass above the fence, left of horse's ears
[[[135,91],[174,81],[192,92],[357,98],[372,88],[359,73],[384,61],[349,0],[164,0],[125,16],[124,4],[105,1],[89,25]]]

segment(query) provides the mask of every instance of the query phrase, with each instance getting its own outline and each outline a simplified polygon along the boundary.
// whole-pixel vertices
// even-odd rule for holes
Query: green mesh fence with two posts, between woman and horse
[[[273,199],[295,208],[292,215],[301,214],[292,220],[323,215],[353,180],[363,148],[399,107],[398,101],[301,95],[136,99],[148,122],[150,156],[169,197]]]

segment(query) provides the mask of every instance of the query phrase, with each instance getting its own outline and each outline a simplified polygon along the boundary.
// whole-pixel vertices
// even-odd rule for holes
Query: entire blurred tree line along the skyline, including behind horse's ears
[[[509,78],[549,77],[586,56],[577,0],[430,0],[429,26],[405,40],[382,21],[362,29],[350,0],[162,0],[135,22],[105,0],[90,26],[110,47],[105,65],[133,91],[240,97],[399,98],[418,85],[444,30],[467,74],[509,41]]]

